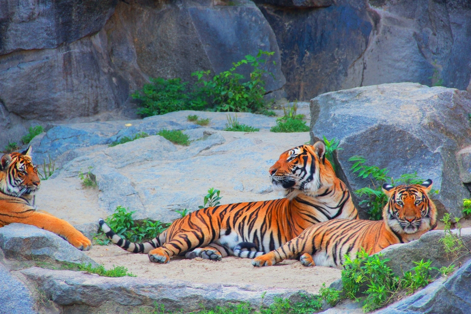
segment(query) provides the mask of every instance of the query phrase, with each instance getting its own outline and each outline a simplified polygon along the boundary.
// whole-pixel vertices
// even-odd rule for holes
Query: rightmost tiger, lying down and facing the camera
[[[305,266],[341,268],[344,255],[354,259],[364,248],[374,254],[397,243],[417,240],[437,225],[437,209],[427,193],[432,180],[422,184],[383,185],[389,198],[383,220],[331,220],[306,229],[282,247],[252,261],[254,266],[270,266],[291,258],[300,258]]]

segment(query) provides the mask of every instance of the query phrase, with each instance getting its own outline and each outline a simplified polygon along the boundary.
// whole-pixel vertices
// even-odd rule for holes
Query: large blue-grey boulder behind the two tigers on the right
[[[352,156],[388,168],[395,179],[404,173],[432,179],[439,215],[462,217],[470,193],[460,180],[456,153],[471,144],[471,95],[445,87],[414,83],[382,84],[319,95],[311,101],[311,138],[340,140],[339,173],[352,190],[368,186],[350,168]],[[354,197],[358,204],[358,198]],[[366,209],[360,216],[368,218]]]

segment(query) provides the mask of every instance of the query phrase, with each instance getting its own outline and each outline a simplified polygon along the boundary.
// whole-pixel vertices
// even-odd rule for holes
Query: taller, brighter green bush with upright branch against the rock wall
[[[263,69],[266,60],[263,56],[271,56],[274,52],[259,50],[257,56],[246,55],[244,59],[233,63],[228,71],[212,76],[210,71],[192,73],[196,76],[199,86],[198,93],[205,94],[212,109],[216,111],[244,111],[256,112],[264,109],[263,95],[265,94],[265,81]],[[236,73],[242,65],[253,67],[250,78],[246,80],[243,75]]]

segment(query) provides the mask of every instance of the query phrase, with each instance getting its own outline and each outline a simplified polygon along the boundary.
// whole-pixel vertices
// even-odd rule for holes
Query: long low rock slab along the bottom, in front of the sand
[[[31,267],[21,271],[28,280],[47,294],[58,306],[81,313],[102,313],[111,306],[122,313],[136,308],[154,308],[154,303],[166,311],[190,312],[214,308],[234,302],[250,302],[258,307],[273,303],[275,297],[296,298],[296,289],[267,288],[256,285],[194,284],[167,279],[99,277],[68,270],[49,270]],[[67,283],[67,284],[64,284]],[[67,310],[66,310],[67,309]],[[122,312],[121,312],[122,311]]]

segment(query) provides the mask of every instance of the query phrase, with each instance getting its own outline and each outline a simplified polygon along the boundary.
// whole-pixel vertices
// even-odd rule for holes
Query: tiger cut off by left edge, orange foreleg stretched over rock
[[[79,250],[89,250],[90,240],[71,224],[36,210],[34,192],[41,182],[30,153],[31,146],[22,153],[5,154],[0,159],[0,227],[14,222],[33,225],[65,238]]]

